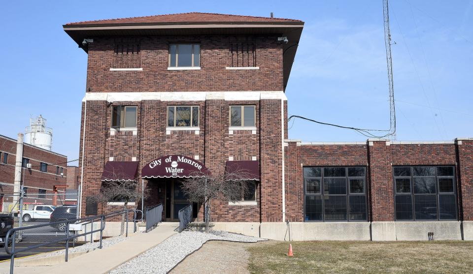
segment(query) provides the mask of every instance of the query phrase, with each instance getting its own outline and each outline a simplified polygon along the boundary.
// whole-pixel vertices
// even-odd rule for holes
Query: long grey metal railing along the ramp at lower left
[[[87,235],[91,235],[90,237],[90,243],[93,243],[93,236],[94,236],[94,233],[97,233],[97,232],[100,232],[100,238],[99,238],[99,241],[100,241],[100,244],[99,244],[99,248],[102,248],[102,234],[103,234],[103,230],[105,229],[105,219],[106,218],[109,218],[109,217],[113,217],[113,216],[116,216],[116,215],[121,215],[121,214],[126,214],[126,226],[127,226],[127,229],[126,229],[126,237],[128,237],[128,214],[130,212],[133,212],[134,213],[134,222],[136,221],[136,210],[121,210],[121,211],[116,211],[116,212],[112,212],[112,213],[109,213],[109,214],[104,214],[104,215],[97,215],[97,216],[92,216],[92,217],[83,217],[83,218],[77,218],[77,219],[71,219],[71,220],[62,220],[62,221],[57,221],[57,222],[50,222],[50,223],[46,223],[46,224],[38,224],[38,225],[32,225],[32,226],[26,226],[26,227],[17,227],[17,228],[12,228],[10,230],[8,230],[8,232],[6,233],[6,236],[5,236],[5,252],[9,255],[11,255],[11,259],[10,259],[10,274],[13,274],[13,267],[14,267],[14,259],[15,259],[15,255],[20,253],[20,252],[25,252],[25,251],[28,251],[28,250],[32,250],[32,249],[35,249],[35,248],[38,248],[38,247],[41,247],[41,246],[45,246],[45,245],[49,245],[49,244],[55,244],[55,243],[59,243],[59,242],[66,242],[66,262],[68,261],[68,254],[69,254],[69,241],[70,240],[74,240],[78,237],[82,237],[84,236],[84,239],[86,240],[86,236]],[[100,221],[100,228],[98,229],[94,229],[94,221],[98,222]],[[44,242],[44,243],[40,243],[40,244],[35,244],[35,245],[31,245],[31,246],[28,246],[28,247],[24,247],[24,248],[15,248],[15,240],[16,240],[16,234],[17,234],[17,231],[20,231],[20,233],[24,230],[28,230],[28,229],[35,229],[35,228],[40,228],[40,227],[46,227],[46,226],[51,226],[51,225],[59,225],[59,224],[64,224],[64,223],[67,223],[66,225],[66,230],[65,230],[65,234],[64,234],[64,238],[61,238],[61,239],[56,239],[56,240],[52,240],[52,241],[48,241],[48,242]],[[80,225],[82,227],[82,225],[85,226],[85,232],[84,233],[81,233],[81,234],[70,234],[70,225],[71,224],[75,224],[75,225]],[[91,231],[87,232],[87,225],[90,224],[90,227],[91,227]],[[11,239],[10,239],[11,238]],[[11,241],[11,249],[9,248],[9,242]],[[87,242],[87,241],[85,241]]]

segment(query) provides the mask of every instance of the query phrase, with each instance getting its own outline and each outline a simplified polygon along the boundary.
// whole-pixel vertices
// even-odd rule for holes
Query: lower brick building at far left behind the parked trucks
[[[14,205],[18,200],[20,185],[24,186],[25,205],[61,204],[65,198],[68,157],[23,143],[23,134],[18,137],[15,140],[0,135],[1,212],[18,210],[18,205]],[[21,153],[19,158],[18,153]],[[15,171],[17,161],[21,163],[18,172]]]

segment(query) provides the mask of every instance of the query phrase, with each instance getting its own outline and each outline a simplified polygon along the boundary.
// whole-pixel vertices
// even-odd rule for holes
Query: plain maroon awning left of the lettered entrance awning
[[[137,161],[108,161],[102,172],[102,181],[136,181]]]

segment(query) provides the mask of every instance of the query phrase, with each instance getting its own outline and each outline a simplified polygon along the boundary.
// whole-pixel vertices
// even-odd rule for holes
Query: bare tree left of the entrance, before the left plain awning
[[[138,202],[141,198],[146,199],[150,195],[147,186],[139,191],[138,178],[134,180],[123,180],[123,171],[113,170],[110,180],[103,181],[100,191],[90,197],[92,201],[106,205],[109,202],[124,202],[123,209],[127,209],[129,202]],[[123,234],[125,228],[125,213],[122,214],[120,234]]]

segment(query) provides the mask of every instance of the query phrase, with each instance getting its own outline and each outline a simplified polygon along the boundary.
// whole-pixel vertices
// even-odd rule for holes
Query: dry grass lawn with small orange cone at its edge
[[[292,242],[248,247],[251,273],[473,273],[473,242]]]

